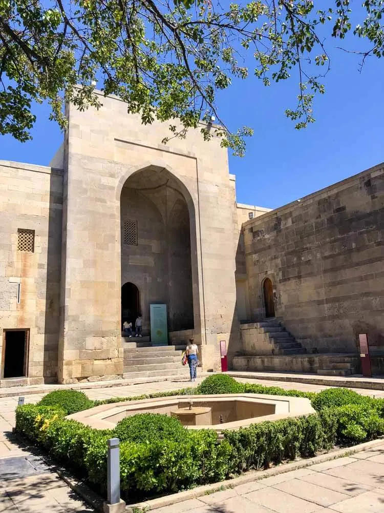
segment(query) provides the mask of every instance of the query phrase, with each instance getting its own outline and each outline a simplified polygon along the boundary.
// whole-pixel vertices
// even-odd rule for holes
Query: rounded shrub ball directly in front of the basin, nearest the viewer
[[[114,436],[121,442],[183,440],[187,434],[181,422],[161,413],[138,413],[117,423]]]

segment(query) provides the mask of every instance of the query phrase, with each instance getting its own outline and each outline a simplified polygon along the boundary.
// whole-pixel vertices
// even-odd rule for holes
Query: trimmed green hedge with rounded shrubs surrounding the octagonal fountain
[[[56,460],[75,469],[104,495],[107,440],[115,436],[121,438],[121,490],[123,498],[131,503],[198,484],[221,481],[250,468],[268,468],[284,460],[312,457],[335,444],[351,445],[384,434],[384,401],[381,399],[363,397],[343,388],[309,393],[236,381],[234,385],[234,380],[227,378],[230,377],[218,379],[211,376],[198,390],[176,390],[105,401],[88,400],[88,404],[93,406],[183,393],[212,393],[215,386],[220,393],[233,393],[232,390],[236,389],[236,393],[307,397],[317,414],[224,431],[221,441],[217,433],[209,429],[189,430],[181,440],[179,436],[184,431],[181,424],[178,424],[176,434],[172,433],[175,419],[164,419],[162,415],[130,417],[130,420],[121,421],[114,430],[92,429],[68,420],[65,416],[74,390],[62,390],[66,393],[56,394],[54,403],[51,392],[49,401],[45,401],[46,396],[38,405],[18,406],[16,431],[44,447]],[[81,401],[76,403],[76,408],[86,404]],[[140,433],[143,430],[147,432]]]

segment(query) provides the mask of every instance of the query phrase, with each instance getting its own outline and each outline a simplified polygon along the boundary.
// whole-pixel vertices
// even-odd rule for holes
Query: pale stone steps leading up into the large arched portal
[[[181,365],[184,346],[152,346],[145,339],[128,339],[123,343],[124,378],[189,378],[188,366]]]

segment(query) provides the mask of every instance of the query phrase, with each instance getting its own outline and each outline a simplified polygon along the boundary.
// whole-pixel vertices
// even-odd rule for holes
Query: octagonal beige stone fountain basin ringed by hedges
[[[239,429],[250,424],[315,413],[309,399],[264,394],[173,396],[102,404],[69,415],[96,429],[113,429],[137,413],[163,413],[176,417],[188,429]]]

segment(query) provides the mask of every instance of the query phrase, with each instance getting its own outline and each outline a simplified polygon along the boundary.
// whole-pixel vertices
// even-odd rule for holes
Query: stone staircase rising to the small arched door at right
[[[275,318],[241,325],[243,348],[251,354],[288,356],[304,354],[306,349]]]

